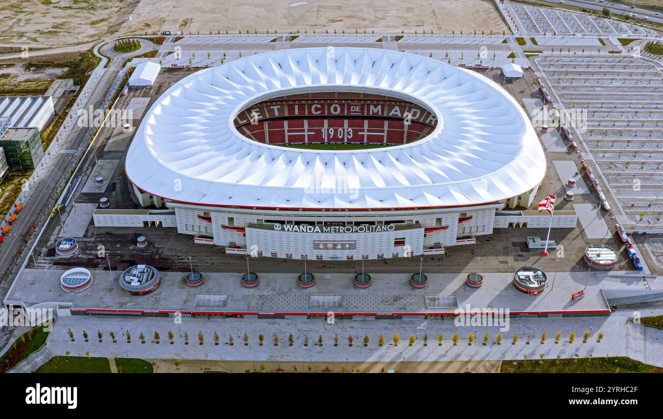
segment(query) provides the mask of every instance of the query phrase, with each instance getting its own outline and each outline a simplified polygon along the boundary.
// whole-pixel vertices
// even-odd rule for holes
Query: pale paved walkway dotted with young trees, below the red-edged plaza
[[[660,314],[661,310],[643,310],[641,316]],[[489,361],[501,359],[556,359],[574,357],[627,356],[650,365],[663,366],[663,331],[645,328],[629,321],[631,313],[618,312],[608,318],[523,318],[511,319],[508,329],[499,327],[456,326],[453,320],[258,320],[233,318],[109,318],[72,316],[60,318],[48,337],[48,355],[91,357],[137,357],[142,359],[192,359],[226,361]],[[76,340],[68,336],[71,328]],[[84,330],[114,331],[117,343],[82,338]],[[126,333],[131,334],[127,343]],[[154,339],[158,331],[160,342]],[[173,333],[173,343],[168,339]],[[542,332],[547,339],[541,342]],[[555,335],[560,331],[560,340]],[[583,334],[591,337],[583,342]],[[570,334],[575,339],[570,341]],[[145,343],[139,339],[145,335]],[[215,344],[215,333],[218,345]],[[248,345],[243,342],[248,336]],[[394,333],[400,343],[394,344]],[[469,345],[468,333],[475,341]],[[488,341],[483,345],[485,333]],[[501,344],[498,333],[503,333]],[[514,335],[518,338],[514,341]],[[603,339],[599,342],[599,333]],[[292,346],[288,343],[292,334]],[[443,335],[442,345],[438,336]],[[452,337],[459,340],[454,345]],[[186,337],[188,335],[188,344]],[[263,345],[259,343],[263,335]],[[278,345],[274,345],[274,335]],[[379,345],[380,335],[385,341]],[[424,346],[424,336],[428,345]],[[334,345],[337,336],[338,344]],[[369,337],[365,346],[363,339]],[[415,341],[410,346],[408,341]],[[318,341],[322,337],[322,345]],[[349,344],[351,337],[352,345]],[[202,341],[202,344],[200,342]],[[308,345],[305,345],[308,341]],[[231,345],[231,342],[233,343]],[[40,351],[42,353],[42,351]],[[46,355],[40,356],[44,360]],[[34,368],[19,365],[21,371]],[[18,370],[18,368],[17,368]]]

